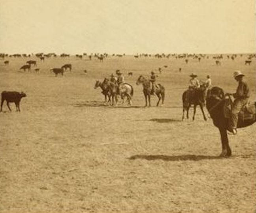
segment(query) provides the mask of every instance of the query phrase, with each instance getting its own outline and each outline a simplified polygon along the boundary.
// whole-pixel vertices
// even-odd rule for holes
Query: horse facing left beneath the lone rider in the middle
[[[141,75],[137,82],[136,85],[142,84],[143,86],[143,93],[145,96],[145,107],[147,107],[147,100],[149,100],[149,107],[151,106],[150,104],[150,95],[151,95],[151,81],[146,79],[145,77],[143,77],[143,75]],[[162,105],[164,104],[164,87],[161,84],[157,85],[157,88],[155,87],[155,93],[158,97],[158,102],[156,104],[156,106],[159,105],[160,100],[162,99]]]

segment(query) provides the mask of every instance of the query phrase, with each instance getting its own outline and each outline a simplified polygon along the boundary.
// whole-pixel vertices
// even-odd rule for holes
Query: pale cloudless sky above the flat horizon
[[[254,0],[0,0],[0,52],[251,53]]]

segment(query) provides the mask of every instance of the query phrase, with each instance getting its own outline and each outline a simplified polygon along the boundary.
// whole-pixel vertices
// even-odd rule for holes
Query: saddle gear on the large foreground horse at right
[[[231,105],[232,101],[230,99],[225,99],[224,104],[224,117],[231,118]],[[256,117],[256,105],[255,103],[248,102],[239,112],[238,120],[242,122],[245,120],[255,120]]]

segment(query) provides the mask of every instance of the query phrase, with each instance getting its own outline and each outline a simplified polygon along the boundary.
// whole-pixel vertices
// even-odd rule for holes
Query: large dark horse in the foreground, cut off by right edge
[[[228,144],[228,135],[227,131],[229,131],[228,125],[228,118],[224,116],[224,92],[219,87],[213,87],[207,93],[206,98],[206,108],[213,119],[213,124],[219,129],[220,131],[220,138],[222,144],[222,153],[220,154],[221,157],[230,157],[232,152],[230,146]],[[256,103],[254,103],[256,106]],[[242,120],[239,118],[237,128],[247,127],[252,125],[256,122],[256,116],[251,120]]]

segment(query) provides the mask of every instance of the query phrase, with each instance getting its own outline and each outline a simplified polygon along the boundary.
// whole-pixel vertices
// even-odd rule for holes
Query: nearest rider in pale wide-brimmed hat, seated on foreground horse
[[[241,109],[247,104],[249,98],[249,88],[246,82],[243,81],[243,77],[245,75],[241,73],[241,71],[235,71],[233,73],[233,77],[238,82],[237,90],[235,93],[228,93],[229,95],[233,95],[235,98],[233,107],[231,110],[231,120],[230,127],[233,135],[237,133],[237,121],[238,121],[238,113]]]

